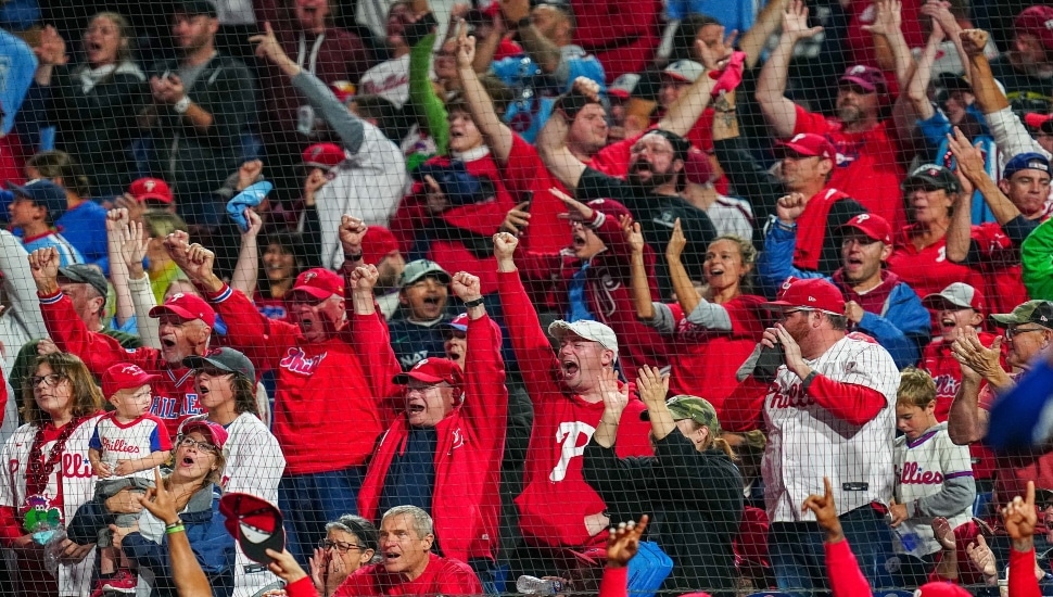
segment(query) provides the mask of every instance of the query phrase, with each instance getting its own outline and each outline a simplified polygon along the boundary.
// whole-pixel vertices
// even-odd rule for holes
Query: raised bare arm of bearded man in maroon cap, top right
[[[776,137],[790,137],[797,125],[794,102],[785,94],[794,47],[801,39],[819,35],[822,30],[823,27],[809,28],[808,8],[801,0],[790,0],[783,13],[783,35],[778,38],[778,46],[767,58],[757,79],[757,102]]]

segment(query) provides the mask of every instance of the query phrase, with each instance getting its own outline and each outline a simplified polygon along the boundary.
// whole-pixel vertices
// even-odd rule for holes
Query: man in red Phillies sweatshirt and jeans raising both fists
[[[361,262],[365,233],[360,219],[344,216],[343,278],[322,268],[296,277],[289,293],[295,323],[259,314],[215,275],[215,255],[189,245],[186,233],[166,242],[173,259],[223,315],[230,344],[258,368],[277,372],[274,433],[286,455],[278,501],[297,558],[306,558],[310,542],[325,536],[327,521],[357,513],[366,460],[389,415],[380,412],[379,398],[397,394],[391,380],[401,369],[373,302],[377,268]],[[346,312],[345,300],[353,305]]]

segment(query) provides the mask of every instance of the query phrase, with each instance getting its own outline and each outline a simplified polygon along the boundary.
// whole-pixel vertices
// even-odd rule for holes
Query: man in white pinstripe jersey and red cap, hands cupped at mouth
[[[790,280],[767,306],[779,314],[758,344],[752,374],[724,403],[724,428],[763,415],[769,549],[783,590],[826,590],[823,534],[800,504],[829,478],[838,518],[873,586],[892,586],[892,436],[900,374],[870,336],[848,333],[845,298],[826,280]],[[777,359],[777,360],[776,360]],[[766,363],[765,363],[766,361]],[[749,361],[747,361],[749,364]]]

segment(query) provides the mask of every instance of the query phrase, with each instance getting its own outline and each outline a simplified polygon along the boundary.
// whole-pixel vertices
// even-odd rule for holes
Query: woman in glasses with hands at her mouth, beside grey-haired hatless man
[[[380,532],[368,520],[344,515],[326,525],[326,538],[318,542],[310,558],[310,580],[322,597],[330,597],[359,568],[373,563]]]

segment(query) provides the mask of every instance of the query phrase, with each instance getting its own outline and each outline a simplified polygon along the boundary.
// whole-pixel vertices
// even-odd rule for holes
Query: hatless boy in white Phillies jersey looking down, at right
[[[896,423],[903,434],[892,447],[897,477],[896,497],[889,507],[893,547],[903,586],[919,586],[942,549],[933,532],[933,519],[947,518],[951,529],[967,522],[976,486],[968,446],[954,445],[947,422],[936,421],[936,382],[927,372],[903,369]]]

